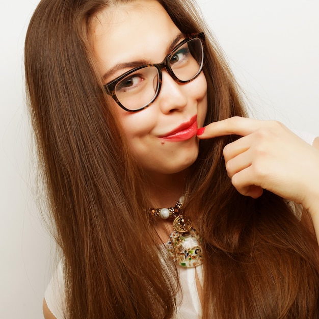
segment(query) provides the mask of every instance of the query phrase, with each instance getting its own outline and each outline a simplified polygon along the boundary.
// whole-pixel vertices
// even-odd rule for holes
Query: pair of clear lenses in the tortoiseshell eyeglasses
[[[195,78],[202,68],[203,48],[201,40],[194,38],[172,51],[169,55],[169,72],[181,82]],[[151,103],[159,90],[159,70],[145,66],[126,77],[115,87],[115,94],[124,108],[135,111]]]

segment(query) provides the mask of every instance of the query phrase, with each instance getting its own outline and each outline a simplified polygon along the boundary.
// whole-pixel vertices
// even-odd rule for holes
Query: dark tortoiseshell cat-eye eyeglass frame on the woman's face
[[[196,39],[198,38],[201,43],[202,43],[202,50],[203,50],[203,57],[202,57],[202,63],[199,67],[198,72],[191,78],[188,79],[187,81],[182,81],[180,80],[178,77],[176,77],[176,75],[174,74],[173,70],[170,67],[170,59],[172,58],[173,53],[175,53],[175,51],[182,45],[184,45],[185,43],[189,42],[190,40]],[[164,59],[163,62],[161,63],[152,63],[152,64],[145,64],[145,65],[141,65],[137,68],[131,69],[127,72],[125,72],[124,74],[118,76],[117,78],[113,79],[111,82],[107,83],[104,85],[104,88],[106,90],[106,92],[108,94],[110,94],[113,99],[116,101],[116,103],[125,111],[127,112],[138,112],[141,110],[146,109],[147,107],[149,107],[150,104],[152,104],[154,102],[154,100],[157,98],[159,91],[161,91],[161,86],[162,86],[162,69],[166,68],[167,72],[170,74],[170,76],[174,79],[174,81],[178,82],[178,83],[189,83],[191,81],[193,81],[202,71],[203,69],[203,61],[204,61],[204,44],[205,44],[205,35],[203,32],[200,33],[196,33],[196,34],[191,34],[188,37],[186,37],[183,41],[181,41],[180,43],[178,43],[172,50],[172,52],[170,54],[168,54],[166,56],[166,58]],[[158,72],[158,84],[157,84],[157,88],[156,88],[156,92],[154,97],[151,99],[151,101],[149,103],[147,103],[146,105],[144,105],[142,108],[137,109],[137,110],[129,110],[127,108],[124,107],[124,105],[121,104],[121,102],[119,101],[119,99],[116,96],[115,93],[115,87],[116,85],[127,75],[134,73],[140,69],[146,68],[146,67],[156,67],[157,72]]]

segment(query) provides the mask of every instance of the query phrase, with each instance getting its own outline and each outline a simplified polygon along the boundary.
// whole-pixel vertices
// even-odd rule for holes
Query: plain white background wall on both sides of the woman
[[[34,196],[34,150],[23,92],[23,41],[37,3],[6,1],[1,8],[2,319],[41,318],[51,270],[49,236]],[[319,135],[319,2],[201,0],[199,4],[255,116]]]

